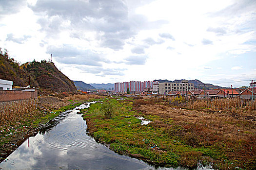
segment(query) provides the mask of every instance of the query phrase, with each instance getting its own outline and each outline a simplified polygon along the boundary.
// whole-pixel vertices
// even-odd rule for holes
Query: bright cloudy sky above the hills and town
[[[256,0],[0,0],[0,47],[85,83],[248,85]]]

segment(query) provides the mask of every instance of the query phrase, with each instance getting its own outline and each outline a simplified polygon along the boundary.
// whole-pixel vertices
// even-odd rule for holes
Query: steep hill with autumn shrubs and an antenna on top
[[[7,51],[0,51],[0,79],[13,81],[13,86],[39,88],[42,93],[76,92],[74,83],[54,63],[32,61],[20,64],[8,56]]]

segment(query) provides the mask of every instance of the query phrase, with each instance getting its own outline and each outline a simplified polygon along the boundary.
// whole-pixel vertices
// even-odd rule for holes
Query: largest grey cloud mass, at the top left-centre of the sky
[[[146,17],[133,13],[128,15],[128,4],[135,2],[127,3],[124,0],[38,0],[28,6],[41,16],[38,23],[48,36],[72,30],[78,33],[70,36],[81,39],[84,31],[96,31],[98,46],[120,50],[125,41],[141,29],[158,28],[167,23],[164,20],[149,22]],[[64,22],[70,25],[62,24]]]

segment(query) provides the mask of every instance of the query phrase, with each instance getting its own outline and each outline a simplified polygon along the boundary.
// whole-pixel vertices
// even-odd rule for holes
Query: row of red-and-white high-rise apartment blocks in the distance
[[[144,88],[153,88],[153,85],[159,82],[140,82],[140,81],[130,81],[123,83],[115,83],[115,92],[126,92],[129,88],[130,92],[143,91]]]

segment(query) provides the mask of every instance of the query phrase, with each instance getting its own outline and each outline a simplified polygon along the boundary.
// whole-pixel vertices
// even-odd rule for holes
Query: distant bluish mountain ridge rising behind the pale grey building
[[[164,82],[170,82],[170,83],[181,83],[181,81],[184,80],[184,79],[181,79],[181,80],[175,80],[175,81],[169,81],[169,80],[154,80],[154,81],[158,81],[160,83],[164,83]],[[194,84],[194,88],[199,88],[199,89],[204,89],[204,83],[202,83],[201,81],[199,80],[189,80],[188,81],[189,83],[193,83]],[[207,90],[211,90],[211,89],[215,89],[215,88],[222,88],[221,86],[218,86],[218,85],[212,85],[212,84],[205,84],[205,89]]]

